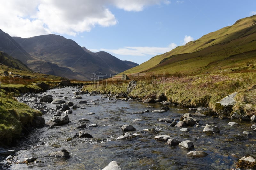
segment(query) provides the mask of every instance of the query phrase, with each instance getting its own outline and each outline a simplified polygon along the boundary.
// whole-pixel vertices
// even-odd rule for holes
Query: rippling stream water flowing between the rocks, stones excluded
[[[49,90],[46,93],[55,96],[62,94],[67,96],[78,109],[71,109],[68,124],[34,129],[26,138],[22,139],[17,147],[27,150],[16,152],[15,158],[23,161],[26,157],[37,157],[38,163],[12,164],[10,169],[103,169],[111,161],[115,160],[123,169],[230,169],[235,167],[237,159],[250,154],[255,157],[255,132],[251,129],[251,122],[232,120],[239,125],[228,126],[230,120],[213,119],[212,117],[196,117],[200,127],[189,127],[188,133],[180,132],[180,127],[171,127],[170,123],[158,122],[158,118],[179,118],[188,110],[179,110],[171,107],[164,113],[152,113],[152,110],[160,109],[161,103],[146,104],[136,101],[121,101],[102,99],[100,95],[81,95],[83,99],[73,99],[75,87]],[[79,104],[80,100],[88,101],[87,104]],[[92,104],[91,100],[97,105]],[[55,104],[47,103],[47,108],[56,108]],[[150,107],[149,107],[150,106]],[[149,113],[138,113],[149,110]],[[87,113],[94,112],[93,115]],[[44,114],[47,122],[53,114]],[[90,123],[82,131],[89,133],[93,138],[73,138],[80,130],[76,129],[78,120],[86,118]],[[135,119],[142,121],[133,122]],[[98,124],[98,127],[88,127],[90,124]],[[131,124],[136,128],[140,136],[132,139],[116,140],[123,134],[121,127]],[[216,125],[220,133],[207,135],[203,133],[206,124]],[[148,131],[142,131],[148,129]],[[243,131],[252,133],[244,136]],[[169,146],[167,142],[157,141],[156,135],[169,135],[180,140],[191,140],[194,150],[208,153],[203,158],[191,158],[188,151],[179,146]],[[240,136],[242,135],[242,136]],[[71,141],[67,141],[72,138]],[[226,142],[225,139],[229,142]],[[231,140],[232,139],[232,140]],[[66,149],[70,153],[69,159],[44,157],[51,152]]]

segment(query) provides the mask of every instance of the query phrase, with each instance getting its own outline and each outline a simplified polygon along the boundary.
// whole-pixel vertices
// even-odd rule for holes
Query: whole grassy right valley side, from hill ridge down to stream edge
[[[209,106],[217,112],[216,102],[238,92],[234,112],[252,115],[256,112],[255,61],[256,15],[157,55],[121,74],[132,78],[131,74],[140,73],[143,77],[129,97],[156,99],[163,94],[172,104]],[[154,75],[158,78],[153,79]],[[107,80],[104,86],[84,86],[84,90],[127,94],[129,81],[121,81],[123,84],[118,86],[113,81],[116,79]]]

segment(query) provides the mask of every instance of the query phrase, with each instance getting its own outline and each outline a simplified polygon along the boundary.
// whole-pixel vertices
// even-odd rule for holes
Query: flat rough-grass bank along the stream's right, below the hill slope
[[[196,76],[144,77],[128,93],[130,80],[117,81],[110,78],[84,86],[84,91],[96,91],[100,94],[127,96],[132,99],[157,99],[165,97],[173,105],[181,107],[209,107],[218,112],[216,102],[225,96],[238,92],[236,104],[229,113],[252,116],[256,112],[256,75],[255,73],[204,74]]]

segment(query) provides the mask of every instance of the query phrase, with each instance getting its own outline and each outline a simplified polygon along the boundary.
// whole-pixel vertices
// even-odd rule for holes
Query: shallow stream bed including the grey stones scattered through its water
[[[52,96],[55,102],[36,105],[31,101],[44,96]],[[26,135],[17,143],[18,150],[0,162],[12,169],[96,170],[113,160],[123,169],[231,169],[245,155],[255,158],[255,123],[205,116],[209,108],[143,103],[84,93],[80,87],[24,94],[17,99],[43,110],[47,126]],[[48,124],[57,118],[64,118],[65,123]],[[179,142],[193,147],[186,149]],[[70,157],[56,155],[62,151]],[[26,164],[28,158],[36,160]]]

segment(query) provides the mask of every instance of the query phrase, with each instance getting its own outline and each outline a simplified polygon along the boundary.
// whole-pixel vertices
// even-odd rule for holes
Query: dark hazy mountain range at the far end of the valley
[[[75,41],[66,39],[60,35],[41,35],[30,38],[12,37],[20,46],[29,54],[38,60],[46,61],[47,67],[42,65],[33,67],[33,70],[41,70],[46,73],[56,74],[56,68],[52,64],[56,64],[58,76],[77,80],[90,80],[91,74],[116,74],[126,69],[130,69],[134,64],[127,65],[125,61],[112,56],[106,52],[93,53],[89,50],[84,50]],[[54,65],[54,66],[56,66]],[[43,72],[44,71],[44,72]],[[61,74],[61,75],[60,75]]]

